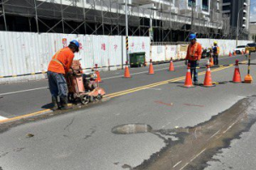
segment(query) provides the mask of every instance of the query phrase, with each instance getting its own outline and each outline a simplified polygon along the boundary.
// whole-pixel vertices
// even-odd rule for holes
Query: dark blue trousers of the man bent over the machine
[[[67,98],[67,82],[63,74],[48,71],[49,91],[52,97]]]

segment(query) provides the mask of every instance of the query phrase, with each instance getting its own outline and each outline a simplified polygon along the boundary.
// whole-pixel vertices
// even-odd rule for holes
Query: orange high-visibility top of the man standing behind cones
[[[195,42],[194,45],[189,44],[187,56],[185,59],[189,60],[200,60],[201,59],[201,44],[199,42]]]

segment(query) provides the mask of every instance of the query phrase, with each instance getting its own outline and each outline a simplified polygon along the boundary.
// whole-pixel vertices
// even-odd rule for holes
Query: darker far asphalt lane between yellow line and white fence
[[[220,59],[220,65],[234,64],[236,59],[243,60],[245,57],[224,57]],[[206,59],[203,59],[201,65],[205,64]],[[133,68],[131,69],[131,79],[122,78],[124,75],[122,70],[102,72],[103,82],[101,86],[106,89],[108,94],[113,94],[154,82],[184,77],[186,68],[183,65],[183,61],[175,62],[174,65],[176,69],[174,72],[167,71],[168,64],[154,65],[155,75],[153,76],[147,75],[148,67]],[[200,71],[205,71],[205,69]],[[0,97],[0,116],[7,118],[43,111],[49,108],[51,102],[47,80],[0,85]]]

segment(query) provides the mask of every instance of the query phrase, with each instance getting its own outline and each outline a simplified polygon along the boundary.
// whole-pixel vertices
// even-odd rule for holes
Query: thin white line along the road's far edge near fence
[[[221,58],[219,60],[223,60],[223,59],[230,59],[230,57],[225,57],[225,58]],[[203,59],[203,60],[207,60],[207,59]],[[183,61],[181,61],[183,62]],[[178,62],[178,63],[181,63]],[[182,67],[184,65],[176,65],[176,68]],[[169,67],[165,67],[165,68],[161,68],[161,69],[155,69],[154,71],[163,71],[163,70],[167,70]],[[142,71],[142,72],[137,72],[137,73],[131,73],[131,76],[134,75],[140,75],[143,73],[147,73],[148,71]],[[116,76],[116,77],[106,77],[106,78],[102,78],[102,80],[109,80],[109,79],[113,79],[113,78],[119,78],[119,77],[124,77],[124,75],[120,75],[120,76]],[[30,92],[30,91],[35,91],[35,90],[42,90],[42,89],[46,89],[48,87],[43,87],[43,88],[32,88],[32,89],[27,89],[27,90],[20,90],[20,91],[15,91],[15,92],[9,92],[6,94],[0,94],[0,96],[4,96],[4,95],[10,95],[10,94],[20,94],[20,93],[25,93],[25,92]]]

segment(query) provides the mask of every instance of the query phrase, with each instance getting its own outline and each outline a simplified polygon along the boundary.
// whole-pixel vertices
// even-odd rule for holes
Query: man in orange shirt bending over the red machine
[[[69,72],[73,63],[74,54],[79,52],[79,42],[73,40],[70,42],[67,48],[62,48],[58,51],[50,60],[47,71],[49,80],[49,91],[52,96],[53,108],[67,110],[67,82],[65,75]],[[60,97],[61,105],[58,105],[57,97]]]

